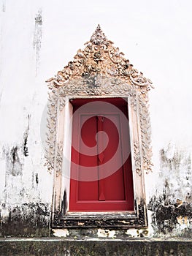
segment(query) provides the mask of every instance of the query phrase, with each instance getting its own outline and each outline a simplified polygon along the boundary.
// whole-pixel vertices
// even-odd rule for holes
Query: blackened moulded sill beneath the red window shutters
[[[53,228],[129,228],[147,227],[145,207],[138,206],[137,211],[131,212],[68,212],[64,216],[55,216]]]

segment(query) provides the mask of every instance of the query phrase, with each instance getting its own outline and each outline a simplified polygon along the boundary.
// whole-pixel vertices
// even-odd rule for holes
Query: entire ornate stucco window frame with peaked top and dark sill
[[[152,83],[123,58],[98,26],[85,50],[47,80],[47,166],[53,170],[53,227],[146,227],[144,173],[151,170],[148,90]],[[128,101],[134,211],[70,213],[69,181],[74,98],[123,97]]]

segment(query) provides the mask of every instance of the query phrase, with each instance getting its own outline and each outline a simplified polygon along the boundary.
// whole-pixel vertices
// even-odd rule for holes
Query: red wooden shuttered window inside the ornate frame
[[[69,211],[134,211],[128,105],[73,99]]]

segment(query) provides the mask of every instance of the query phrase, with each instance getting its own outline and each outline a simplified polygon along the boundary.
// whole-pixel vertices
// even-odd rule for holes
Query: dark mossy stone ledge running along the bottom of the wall
[[[192,255],[191,239],[150,238],[75,240],[68,238],[0,238],[3,256],[155,256]]]

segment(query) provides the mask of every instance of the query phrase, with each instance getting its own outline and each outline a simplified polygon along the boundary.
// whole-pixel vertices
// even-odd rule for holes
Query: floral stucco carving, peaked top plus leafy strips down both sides
[[[134,142],[137,173],[151,170],[150,116],[148,91],[152,82],[123,57],[119,48],[107,39],[100,26],[96,28],[84,50],[78,50],[74,60],[47,80],[49,93],[47,118],[47,165],[61,172],[62,146],[56,145],[58,111],[65,105],[65,97],[128,97],[139,118],[140,145]],[[61,142],[62,143],[62,142]],[[61,144],[60,143],[60,144]]]

